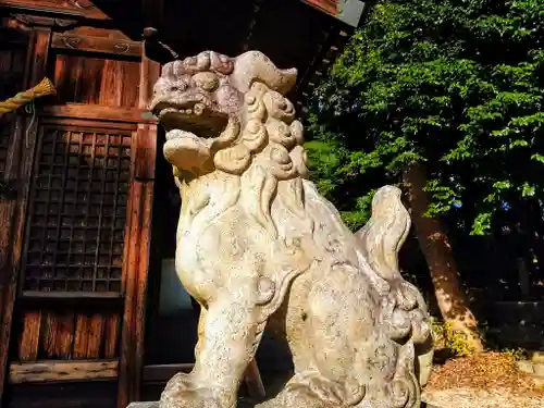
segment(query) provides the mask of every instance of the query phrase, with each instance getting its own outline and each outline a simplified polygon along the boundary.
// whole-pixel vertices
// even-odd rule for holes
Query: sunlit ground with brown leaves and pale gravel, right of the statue
[[[435,364],[423,400],[440,408],[540,408],[544,387],[512,356],[485,353]]]

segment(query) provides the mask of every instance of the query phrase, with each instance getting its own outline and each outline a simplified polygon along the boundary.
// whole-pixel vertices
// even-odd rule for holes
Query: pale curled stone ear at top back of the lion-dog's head
[[[254,82],[261,82],[285,95],[297,82],[297,70],[280,70],[262,52],[248,51],[235,59],[231,84],[245,94]]]

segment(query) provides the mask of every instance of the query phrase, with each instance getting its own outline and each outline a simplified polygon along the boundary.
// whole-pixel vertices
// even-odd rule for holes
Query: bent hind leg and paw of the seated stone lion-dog
[[[419,407],[413,344],[390,337],[364,275],[347,263],[317,273],[308,292],[297,293],[295,285],[290,294],[307,299],[304,322],[286,319],[302,326],[292,327],[297,334],[289,339],[298,356],[295,375],[259,408]]]

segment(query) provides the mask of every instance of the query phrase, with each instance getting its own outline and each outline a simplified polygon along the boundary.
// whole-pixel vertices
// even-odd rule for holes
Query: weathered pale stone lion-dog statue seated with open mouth
[[[231,408],[267,324],[295,373],[262,407],[419,407],[424,301],[399,273],[410,219],[383,187],[351,234],[307,180],[296,70],[262,53],[202,52],[164,65],[153,113],[182,196],[176,271],[202,307],[196,363],[161,408]]]

